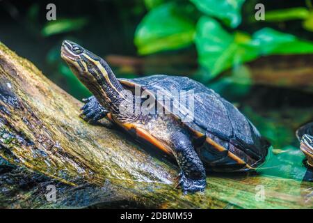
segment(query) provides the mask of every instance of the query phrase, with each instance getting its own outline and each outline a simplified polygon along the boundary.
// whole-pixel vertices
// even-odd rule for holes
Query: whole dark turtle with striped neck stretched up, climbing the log
[[[204,84],[172,75],[118,79],[104,59],[70,40],[63,41],[61,57],[93,93],[83,99],[83,118],[107,118],[174,157],[177,186],[184,194],[203,192],[207,171],[255,171],[264,163],[268,140]],[[177,97],[177,91],[190,97]]]

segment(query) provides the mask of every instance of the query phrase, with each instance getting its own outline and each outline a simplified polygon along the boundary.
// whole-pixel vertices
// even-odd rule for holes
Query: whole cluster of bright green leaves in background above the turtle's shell
[[[214,78],[234,66],[271,54],[310,54],[313,42],[264,27],[252,35],[236,28],[241,23],[244,0],[172,0],[152,8],[138,25],[134,42],[139,54],[180,49],[195,43],[198,62]],[[305,18],[306,8],[266,12],[268,20]],[[216,20],[218,19],[218,20]],[[227,27],[228,26],[228,27]]]

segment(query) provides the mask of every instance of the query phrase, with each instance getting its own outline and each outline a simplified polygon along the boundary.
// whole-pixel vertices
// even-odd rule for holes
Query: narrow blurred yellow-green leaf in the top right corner
[[[266,11],[266,22],[284,22],[289,20],[305,20],[309,16],[307,8],[286,8]]]

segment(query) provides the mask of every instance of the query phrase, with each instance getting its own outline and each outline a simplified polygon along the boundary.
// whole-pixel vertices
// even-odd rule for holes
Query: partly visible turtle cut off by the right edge
[[[296,136],[300,141],[300,150],[307,157],[307,165],[313,168],[313,122],[307,123],[296,131]]]

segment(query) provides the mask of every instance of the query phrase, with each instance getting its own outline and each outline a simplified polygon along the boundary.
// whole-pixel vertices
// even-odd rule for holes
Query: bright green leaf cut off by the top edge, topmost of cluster
[[[241,6],[245,0],[191,0],[203,13],[217,17],[232,28],[241,23]]]

